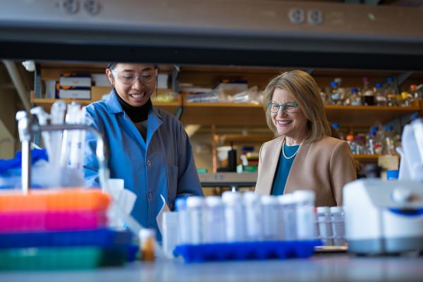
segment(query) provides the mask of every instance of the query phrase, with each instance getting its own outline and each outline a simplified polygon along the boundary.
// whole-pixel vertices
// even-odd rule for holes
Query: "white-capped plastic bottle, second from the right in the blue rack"
[[[297,239],[297,214],[293,194],[284,194],[277,197],[279,202],[279,214],[281,216],[280,228],[282,240]]]

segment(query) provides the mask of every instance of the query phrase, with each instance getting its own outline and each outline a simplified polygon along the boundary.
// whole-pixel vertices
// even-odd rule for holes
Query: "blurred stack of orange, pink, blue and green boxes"
[[[92,269],[128,260],[131,235],[106,228],[111,199],[97,189],[0,194],[0,270]]]

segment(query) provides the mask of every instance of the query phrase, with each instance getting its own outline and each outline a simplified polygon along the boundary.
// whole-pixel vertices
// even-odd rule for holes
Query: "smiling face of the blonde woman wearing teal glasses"
[[[275,88],[271,102],[276,104],[286,104],[288,102],[297,102],[291,94],[281,88]],[[274,123],[278,135],[285,135],[287,145],[298,145],[307,136],[307,118],[302,114],[300,106],[297,111],[287,114],[279,109],[277,113],[271,113],[271,120]],[[290,140],[291,139],[291,140]]]

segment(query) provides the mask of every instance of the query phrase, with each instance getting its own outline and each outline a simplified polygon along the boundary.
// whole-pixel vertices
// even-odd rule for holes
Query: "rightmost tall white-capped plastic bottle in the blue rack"
[[[293,197],[297,210],[298,240],[316,238],[316,214],[314,214],[315,195],[312,190],[296,190]]]

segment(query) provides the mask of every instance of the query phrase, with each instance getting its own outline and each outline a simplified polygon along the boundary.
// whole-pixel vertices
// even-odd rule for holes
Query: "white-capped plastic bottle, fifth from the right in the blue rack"
[[[226,191],[222,200],[225,203],[226,241],[242,242],[245,240],[242,197],[239,192]]]

